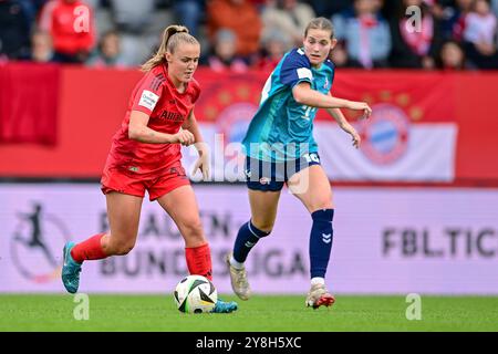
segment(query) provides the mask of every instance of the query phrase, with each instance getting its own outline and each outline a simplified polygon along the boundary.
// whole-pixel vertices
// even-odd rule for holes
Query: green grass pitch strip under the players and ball
[[[236,300],[235,296],[222,296]],[[231,314],[184,314],[173,295],[90,294],[89,320],[76,321],[73,295],[0,295],[0,331],[498,331],[497,296],[422,296],[422,320],[406,320],[404,296],[339,295],[304,308],[303,296],[253,295]]]

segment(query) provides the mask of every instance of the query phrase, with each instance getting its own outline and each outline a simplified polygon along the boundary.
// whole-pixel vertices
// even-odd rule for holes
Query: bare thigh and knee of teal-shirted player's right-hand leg
[[[329,177],[320,165],[310,166],[291,176],[288,186],[309,212],[333,208]]]

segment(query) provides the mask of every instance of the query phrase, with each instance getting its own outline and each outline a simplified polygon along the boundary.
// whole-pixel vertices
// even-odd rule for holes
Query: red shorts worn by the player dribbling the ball
[[[101,179],[102,192],[118,191],[125,195],[144,197],[145,190],[152,200],[168,194],[169,191],[190,184],[180,162],[167,167],[160,174],[138,175],[133,170],[115,167],[105,167]]]

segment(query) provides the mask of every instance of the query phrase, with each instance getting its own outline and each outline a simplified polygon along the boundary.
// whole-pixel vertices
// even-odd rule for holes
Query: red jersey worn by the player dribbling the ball
[[[199,97],[200,87],[191,80],[180,93],[168,77],[165,65],[157,65],[142,77],[129,98],[123,124],[114,135],[107,168],[124,168],[138,175],[154,174],[181,158],[180,144],[148,144],[128,137],[129,115],[149,115],[147,126],[159,133],[176,134]]]

